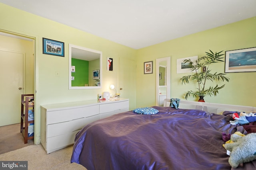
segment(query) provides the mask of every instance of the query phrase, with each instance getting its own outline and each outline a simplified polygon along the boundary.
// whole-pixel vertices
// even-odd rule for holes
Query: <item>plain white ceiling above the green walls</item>
[[[0,0],[140,49],[256,16],[256,0]]]

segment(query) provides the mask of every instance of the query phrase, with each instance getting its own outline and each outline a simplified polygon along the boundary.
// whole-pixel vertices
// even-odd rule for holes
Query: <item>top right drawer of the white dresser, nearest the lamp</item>
[[[100,114],[108,112],[121,113],[123,109],[129,109],[129,101],[100,104]]]

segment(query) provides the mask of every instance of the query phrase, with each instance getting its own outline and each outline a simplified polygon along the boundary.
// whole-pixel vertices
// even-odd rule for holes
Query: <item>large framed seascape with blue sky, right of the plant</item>
[[[226,51],[225,72],[256,71],[256,47]]]

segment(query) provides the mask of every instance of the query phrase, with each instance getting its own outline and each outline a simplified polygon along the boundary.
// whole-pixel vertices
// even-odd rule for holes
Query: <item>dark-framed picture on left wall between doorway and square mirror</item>
[[[64,43],[43,38],[43,54],[64,57]]]

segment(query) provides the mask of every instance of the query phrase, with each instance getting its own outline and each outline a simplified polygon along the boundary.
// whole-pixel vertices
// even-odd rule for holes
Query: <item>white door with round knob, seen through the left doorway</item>
[[[0,126],[20,123],[24,57],[23,53],[0,49]]]

